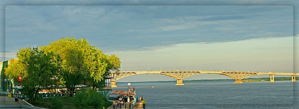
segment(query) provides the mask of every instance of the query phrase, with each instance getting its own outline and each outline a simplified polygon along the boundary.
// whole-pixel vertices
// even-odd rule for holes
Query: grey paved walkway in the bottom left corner
[[[22,99],[19,99],[19,103],[15,102],[14,97],[7,97],[7,96],[0,96],[0,104],[1,105],[28,105],[26,102],[22,101]]]

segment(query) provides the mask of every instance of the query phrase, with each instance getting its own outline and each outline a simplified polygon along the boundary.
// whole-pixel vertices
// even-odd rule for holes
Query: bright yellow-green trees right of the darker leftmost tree
[[[104,77],[109,74],[110,70],[115,70],[120,66],[117,56],[113,55],[111,60],[116,60],[110,62],[108,55],[103,54],[96,46],[89,45],[89,41],[84,38],[62,38],[50,42],[47,46],[42,46],[41,49],[61,55],[62,68],[65,71],[62,74],[62,81],[68,87],[70,96],[74,92],[75,85],[83,80],[87,80],[93,88],[103,88]],[[111,63],[115,65],[112,66]]]

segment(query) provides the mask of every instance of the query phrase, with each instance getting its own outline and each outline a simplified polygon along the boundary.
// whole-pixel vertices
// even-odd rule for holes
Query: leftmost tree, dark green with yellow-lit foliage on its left
[[[62,60],[53,52],[45,53],[38,48],[30,47],[19,49],[17,57],[19,61],[12,64],[6,73],[14,77],[20,74],[24,86],[21,91],[28,95],[31,102],[35,102],[37,96],[34,95],[37,95],[40,89],[56,84],[56,80],[59,80]],[[16,72],[12,73],[13,71]]]

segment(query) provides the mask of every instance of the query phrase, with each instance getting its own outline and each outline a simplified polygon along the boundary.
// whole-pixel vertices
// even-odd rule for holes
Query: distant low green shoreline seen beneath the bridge
[[[250,81],[270,81],[270,78],[247,78],[243,79],[242,82],[250,82]],[[291,77],[276,77],[274,81],[287,81],[292,80]],[[296,80],[299,80],[299,77],[296,77]],[[214,80],[183,80],[183,82],[199,82],[199,81],[235,81],[235,79],[214,79]],[[176,82],[174,81],[140,81],[140,82]]]

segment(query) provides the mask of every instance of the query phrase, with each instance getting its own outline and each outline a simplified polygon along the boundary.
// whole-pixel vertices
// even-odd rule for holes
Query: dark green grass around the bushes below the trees
[[[57,97],[58,101],[62,101],[63,109],[76,109],[74,103],[72,102],[73,101],[72,99],[73,99],[72,97]],[[28,99],[26,101],[28,102]],[[52,108],[51,98],[39,98],[36,100],[36,103],[30,103],[30,104],[39,108],[49,108],[49,109]],[[112,102],[105,101],[104,107],[105,109],[107,109],[111,105]]]

